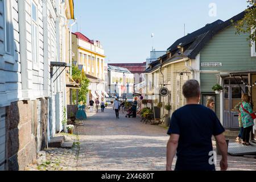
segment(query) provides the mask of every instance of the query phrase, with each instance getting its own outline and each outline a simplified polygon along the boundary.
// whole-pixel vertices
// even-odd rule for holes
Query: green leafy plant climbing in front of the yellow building
[[[78,96],[78,101],[82,101],[84,103],[86,103],[86,96],[88,93],[88,86],[89,86],[89,80],[88,78],[85,76],[85,74],[79,70],[79,68],[75,67],[74,65],[72,65],[72,78],[73,80],[75,80],[76,82],[79,82],[81,89],[79,89],[79,96]],[[76,90],[73,89],[72,90],[72,102],[73,104],[76,104]]]

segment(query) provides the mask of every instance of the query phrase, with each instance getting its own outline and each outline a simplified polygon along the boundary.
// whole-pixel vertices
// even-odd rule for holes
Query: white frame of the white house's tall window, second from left
[[[32,10],[32,5],[35,5],[36,7],[36,22],[33,19],[33,10]],[[34,30],[33,30],[33,26],[36,26],[36,37],[34,35]],[[38,4],[35,1],[31,1],[31,45],[32,45],[32,65],[33,65],[33,69],[39,71],[39,26],[38,26]],[[34,41],[36,41],[36,55],[34,55],[35,51],[34,51]],[[35,57],[34,57],[35,56]],[[36,59],[36,60],[35,60]]]

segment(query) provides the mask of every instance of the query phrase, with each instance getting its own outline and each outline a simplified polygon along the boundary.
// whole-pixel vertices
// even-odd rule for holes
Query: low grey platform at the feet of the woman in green
[[[256,146],[244,146],[239,143],[229,143],[228,154],[230,155],[256,154]]]

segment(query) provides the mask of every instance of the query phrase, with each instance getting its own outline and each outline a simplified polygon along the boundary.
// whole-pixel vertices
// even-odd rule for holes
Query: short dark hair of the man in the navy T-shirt
[[[188,80],[183,85],[183,96],[185,98],[199,97],[200,93],[200,85],[197,80]]]

